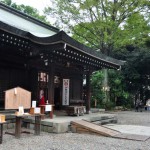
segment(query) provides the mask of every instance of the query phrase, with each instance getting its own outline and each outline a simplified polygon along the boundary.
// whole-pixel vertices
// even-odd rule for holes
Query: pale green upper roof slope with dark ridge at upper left
[[[51,36],[59,32],[58,28],[47,25],[25,13],[0,3],[0,21],[31,32],[39,37]]]

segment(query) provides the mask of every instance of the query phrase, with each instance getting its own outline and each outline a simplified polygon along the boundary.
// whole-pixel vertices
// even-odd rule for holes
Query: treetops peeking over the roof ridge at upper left
[[[42,22],[45,22],[47,24],[50,24],[48,21],[47,21],[47,18],[45,15],[40,15],[39,14],[39,11],[36,9],[36,8],[33,8],[31,6],[25,6],[25,5],[17,5],[16,3],[13,3],[11,0],[0,0],[0,2],[16,9],[16,10],[19,10],[29,16],[32,16]]]

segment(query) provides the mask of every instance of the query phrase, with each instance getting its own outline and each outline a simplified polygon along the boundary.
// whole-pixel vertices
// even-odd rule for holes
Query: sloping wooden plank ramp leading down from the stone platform
[[[100,125],[96,125],[94,123],[87,122],[84,120],[72,121],[71,124],[81,127],[81,128],[84,128],[84,129],[87,129],[90,132],[95,132],[95,133],[98,133],[98,134],[104,135],[104,136],[115,136],[120,133],[119,131],[112,130],[112,129],[109,129],[106,127],[102,127]]]

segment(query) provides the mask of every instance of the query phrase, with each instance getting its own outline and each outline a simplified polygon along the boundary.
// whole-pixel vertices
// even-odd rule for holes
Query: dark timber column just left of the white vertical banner
[[[53,118],[53,106],[54,106],[54,65],[50,66],[49,80],[48,80],[48,102],[52,105],[52,111],[50,112],[50,118]]]

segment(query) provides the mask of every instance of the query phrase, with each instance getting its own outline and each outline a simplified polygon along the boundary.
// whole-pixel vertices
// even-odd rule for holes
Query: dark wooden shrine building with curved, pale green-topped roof
[[[65,108],[71,101],[83,101],[85,77],[83,102],[88,113],[91,73],[102,68],[118,69],[122,64],[64,31],[0,3],[0,108],[4,108],[4,91],[18,86],[31,91],[32,100],[37,101],[43,89],[55,109]]]

